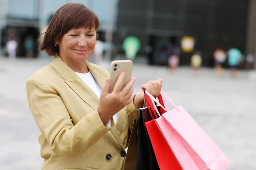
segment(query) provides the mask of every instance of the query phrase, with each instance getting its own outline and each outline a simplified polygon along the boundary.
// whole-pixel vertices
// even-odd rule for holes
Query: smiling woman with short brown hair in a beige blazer
[[[40,130],[42,170],[122,170],[128,132],[143,106],[146,89],[158,96],[162,80],[149,81],[135,95],[135,78],[121,89],[120,74],[109,93],[109,73],[87,62],[99,20],[82,4],[58,9],[40,50],[55,56],[26,84],[29,108]],[[126,106],[126,107],[125,107]]]

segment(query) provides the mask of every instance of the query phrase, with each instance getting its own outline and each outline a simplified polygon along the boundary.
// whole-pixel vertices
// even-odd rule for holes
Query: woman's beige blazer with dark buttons
[[[102,87],[104,68],[86,64]],[[138,110],[133,103],[106,127],[97,112],[99,98],[58,56],[26,83],[29,108],[40,130],[42,170],[122,170],[128,132]]]

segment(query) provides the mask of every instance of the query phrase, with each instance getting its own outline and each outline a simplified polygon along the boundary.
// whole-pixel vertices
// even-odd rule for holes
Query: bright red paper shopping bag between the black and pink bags
[[[162,131],[160,130],[160,127],[157,125],[157,122],[154,119],[154,117],[157,117],[156,112],[154,110],[155,105],[151,102],[151,99],[148,95],[145,94],[144,96],[145,96],[145,102],[147,103],[147,106],[148,106],[148,111],[152,118],[151,121],[145,122],[145,126],[148,131],[148,136],[150,138],[152,147],[154,149],[154,153],[157,158],[157,162],[160,167],[160,170],[183,170],[179,161],[177,161],[177,158],[172,152],[171,147],[169,147],[169,144],[166,141]],[[162,96],[159,95],[157,98],[163,105]],[[163,113],[163,112],[165,112],[165,110],[162,108],[160,110],[160,113]],[[161,115],[159,114],[159,116]]]

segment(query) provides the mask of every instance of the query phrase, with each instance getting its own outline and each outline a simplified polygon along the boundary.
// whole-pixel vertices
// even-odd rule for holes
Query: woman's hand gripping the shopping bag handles
[[[162,79],[151,80],[146,82],[144,85],[140,86],[140,91],[134,97],[134,106],[135,108],[143,108],[144,104],[144,89],[148,91],[148,93],[152,94],[155,98],[159,96],[162,89]]]

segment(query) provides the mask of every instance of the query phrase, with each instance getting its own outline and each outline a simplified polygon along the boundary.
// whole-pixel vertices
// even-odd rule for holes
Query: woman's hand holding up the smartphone
[[[102,88],[99,98],[98,113],[104,125],[106,125],[114,114],[132,101],[134,91],[133,86],[136,78],[132,78],[125,87],[122,88],[124,77],[125,73],[119,75],[112,93],[109,93],[110,79],[106,79],[105,85]]]

